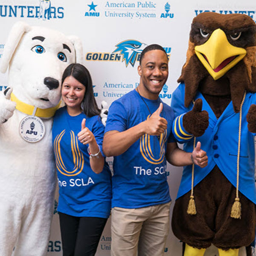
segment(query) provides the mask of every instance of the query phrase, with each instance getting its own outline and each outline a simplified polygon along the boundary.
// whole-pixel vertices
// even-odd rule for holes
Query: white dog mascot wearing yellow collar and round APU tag
[[[44,256],[56,184],[52,116],[61,76],[82,63],[79,38],[18,22],[7,39],[0,71],[0,256]],[[13,91],[12,91],[13,89]],[[15,247],[15,250],[13,250]]]

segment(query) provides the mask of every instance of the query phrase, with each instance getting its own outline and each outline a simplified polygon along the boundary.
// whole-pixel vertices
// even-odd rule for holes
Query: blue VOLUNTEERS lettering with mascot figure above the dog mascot
[[[39,2],[39,6],[0,5],[0,17],[42,18],[43,20],[64,17],[63,7],[52,6],[51,0],[39,0]]]

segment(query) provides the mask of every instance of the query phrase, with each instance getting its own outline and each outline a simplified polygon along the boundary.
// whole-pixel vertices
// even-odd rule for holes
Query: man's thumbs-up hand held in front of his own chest
[[[160,136],[160,134],[166,130],[167,121],[160,116],[162,111],[163,103],[161,102],[157,110],[146,121],[144,121],[146,134]]]

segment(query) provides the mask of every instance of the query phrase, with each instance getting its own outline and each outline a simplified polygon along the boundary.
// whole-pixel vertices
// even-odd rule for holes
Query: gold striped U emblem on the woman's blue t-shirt
[[[63,130],[54,140],[54,151],[55,151],[55,162],[58,171],[66,176],[76,176],[79,175],[79,173],[82,171],[84,168],[84,156],[79,150],[78,146],[78,140],[77,137],[75,136],[73,131],[70,131],[70,138],[71,138],[71,151],[73,155],[73,163],[74,163],[74,168],[72,171],[68,171],[63,159],[61,157],[61,148],[60,148],[60,142],[61,138],[65,134],[65,130]]]

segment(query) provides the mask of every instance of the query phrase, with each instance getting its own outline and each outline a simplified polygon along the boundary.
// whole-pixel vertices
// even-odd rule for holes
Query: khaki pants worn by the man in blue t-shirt
[[[169,233],[170,204],[111,210],[111,256],[162,256]]]

